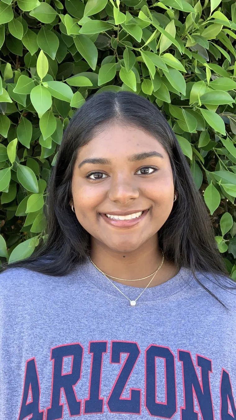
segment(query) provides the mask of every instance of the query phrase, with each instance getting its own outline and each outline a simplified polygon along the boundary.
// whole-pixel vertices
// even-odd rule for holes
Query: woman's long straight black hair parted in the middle
[[[90,249],[90,235],[80,225],[69,205],[71,181],[78,150],[108,123],[125,123],[138,127],[162,144],[169,155],[174,188],[178,198],[169,218],[158,231],[158,244],[167,260],[177,268],[192,271],[196,281],[223,307],[226,306],[197,278],[196,271],[213,274],[218,286],[226,286],[222,277],[230,279],[214,239],[207,208],[195,186],[186,158],[169,123],[156,105],[131,92],[101,92],[88,97],[65,129],[47,188],[44,213],[47,227],[34,253],[25,260],[3,264],[3,269],[22,267],[49,276],[69,274],[82,264]],[[214,282],[215,283],[215,282]],[[227,309],[227,308],[226,308]]]

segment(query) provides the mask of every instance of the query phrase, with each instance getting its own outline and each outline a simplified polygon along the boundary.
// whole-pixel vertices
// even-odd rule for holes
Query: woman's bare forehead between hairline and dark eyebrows
[[[168,158],[162,144],[150,133],[128,125],[109,124],[95,132],[91,141],[81,147],[78,159],[82,160],[88,156],[125,158],[128,155],[149,150],[156,150],[164,158]]]

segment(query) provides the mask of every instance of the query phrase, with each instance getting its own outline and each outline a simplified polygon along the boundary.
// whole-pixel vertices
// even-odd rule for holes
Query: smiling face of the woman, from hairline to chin
[[[157,236],[174,200],[169,156],[150,134],[109,125],[81,147],[72,178],[74,210],[93,240],[130,252]]]

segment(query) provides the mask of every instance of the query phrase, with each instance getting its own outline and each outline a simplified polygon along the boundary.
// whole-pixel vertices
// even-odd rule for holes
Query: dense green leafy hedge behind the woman
[[[33,252],[62,130],[94,92],[164,113],[236,280],[234,0],[0,0],[0,259]]]

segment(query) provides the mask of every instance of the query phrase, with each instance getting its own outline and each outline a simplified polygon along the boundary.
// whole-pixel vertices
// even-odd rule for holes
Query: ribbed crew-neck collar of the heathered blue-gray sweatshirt
[[[92,262],[87,258],[86,262],[79,265],[79,271],[86,278],[89,283],[92,283],[106,294],[112,295],[118,299],[126,300],[122,293],[124,293],[130,300],[135,300],[145,287],[133,287],[126,284],[117,283],[114,280],[111,282],[94,267]],[[184,289],[193,280],[192,271],[189,268],[181,267],[179,273],[158,286],[148,287],[143,294],[137,299],[137,302],[151,302],[154,300],[164,299],[176,294]],[[118,291],[113,285],[117,286]]]

